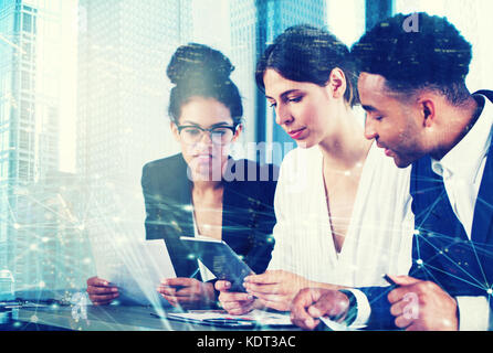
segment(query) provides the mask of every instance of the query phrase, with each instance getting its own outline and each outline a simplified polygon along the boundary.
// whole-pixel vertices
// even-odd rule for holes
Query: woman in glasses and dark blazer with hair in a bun
[[[222,239],[258,274],[271,259],[275,224],[273,199],[277,169],[229,156],[238,140],[243,108],[222,53],[201,44],[180,46],[167,75],[175,87],[168,113],[181,153],[147,163],[143,169],[147,239],[164,238],[177,278],[158,291],[172,306],[213,306],[214,277],[179,239],[208,236]],[[109,286],[92,278],[94,303],[117,298]]]

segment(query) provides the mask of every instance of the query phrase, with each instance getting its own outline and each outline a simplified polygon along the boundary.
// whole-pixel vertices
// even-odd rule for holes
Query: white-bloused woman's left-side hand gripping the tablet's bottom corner
[[[219,301],[222,309],[232,315],[242,315],[253,309],[262,309],[263,306],[249,293],[229,292],[231,282],[227,280],[218,280],[216,289],[220,291]]]

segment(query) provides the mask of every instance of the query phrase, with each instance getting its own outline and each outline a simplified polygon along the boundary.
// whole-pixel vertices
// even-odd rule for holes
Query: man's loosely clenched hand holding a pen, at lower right
[[[394,276],[399,285],[388,295],[396,325],[407,331],[458,330],[457,301],[431,281]]]

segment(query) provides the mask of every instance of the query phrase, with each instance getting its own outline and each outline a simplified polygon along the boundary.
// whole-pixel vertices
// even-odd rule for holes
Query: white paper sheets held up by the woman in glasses
[[[111,256],[99,254],[96,258],[96,271],[97,277],[118,287],[119,301],[169,306],[156,290],[164,278],[176,277],[162,239],[126,239],[115,244]]]

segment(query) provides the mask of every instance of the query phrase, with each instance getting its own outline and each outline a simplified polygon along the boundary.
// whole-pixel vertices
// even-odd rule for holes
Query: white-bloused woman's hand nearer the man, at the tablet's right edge
[[[297,292],[314,285],[304,277],[284,270],[251,275],[244,281],[249,295],[256,297],[264,307],[280,311],[290,311]]]

